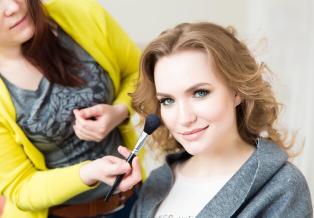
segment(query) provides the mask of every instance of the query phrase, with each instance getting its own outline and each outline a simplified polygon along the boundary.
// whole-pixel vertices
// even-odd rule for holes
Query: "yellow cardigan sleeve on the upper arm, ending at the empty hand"
[[[94,0],[52,0],[45,3],[53,19],[80,44],[106,71],[115,88],[113,104],[129,109],[138,76],[140,50],[112,16]]]

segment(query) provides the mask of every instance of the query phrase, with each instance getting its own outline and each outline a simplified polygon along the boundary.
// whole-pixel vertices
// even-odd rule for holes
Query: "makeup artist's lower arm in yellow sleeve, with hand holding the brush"
[[[85,161],[69,167],[38,170],[26,155],[23,146],[14,140],[11,132],[1,122],[0,151],[0,193],[22,210],[40,210],[60,204],[96,187],[98,180],[113,183],[115,176],[112,174],[130,169],[129,165],[122,168],[124,160],[120,159],[119,162],[114,157],[109,157],[106,160],[101,158]],[[110,168],[108,161],[109,165],[119,164],[111,167],[112,171],[105,171]],[[135,160],[132,164],[135,170],[129,174],[130,177],[125,178],[125,184],[121,183],[122,186],[119,186],[122,190],[141,179],[138,161]]]

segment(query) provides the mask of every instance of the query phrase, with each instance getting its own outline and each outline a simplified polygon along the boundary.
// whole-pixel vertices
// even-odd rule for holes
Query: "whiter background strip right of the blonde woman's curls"
[[[274,90],[286,106],[281,123],[305,139],[292,162],[302,171],[314,195],[314,9],[313,0],[255,0],[247,5],[247,33],[266,37],[267,61],[278,75]],[[313,201],[314,198],[312,198]]]

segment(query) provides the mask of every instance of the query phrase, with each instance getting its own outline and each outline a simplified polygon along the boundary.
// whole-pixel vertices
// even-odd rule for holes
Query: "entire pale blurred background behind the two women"
[[[299,144],[305,140],[303,151],[291,162],[302,171],[314,195],[314,0],[98,1],[141,49],[183,22],[234,26],[257,60],[277,75],[272,78],[274,91],[285,104],[280,125],[298,130]],[[147,173],[160,164],[147,155]]]

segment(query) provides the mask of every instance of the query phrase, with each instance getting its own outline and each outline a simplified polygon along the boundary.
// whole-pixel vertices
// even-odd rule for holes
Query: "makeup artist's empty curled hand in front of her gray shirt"
[[[122,123],[128,116],[127,107],[120,103],[115,105],[97,104],[81,110],[73,110],[75,116],[74,132],[85,141],[102,141],[110,131]]]

